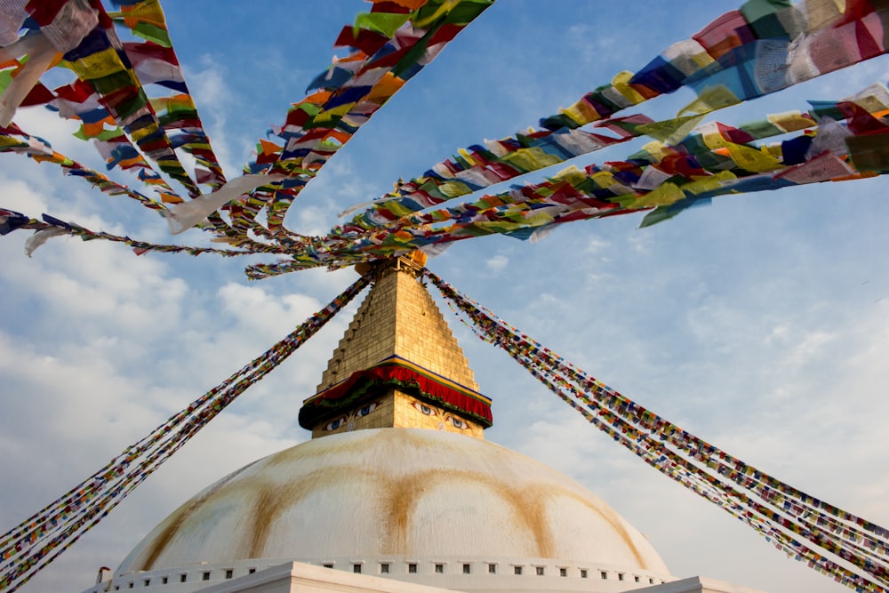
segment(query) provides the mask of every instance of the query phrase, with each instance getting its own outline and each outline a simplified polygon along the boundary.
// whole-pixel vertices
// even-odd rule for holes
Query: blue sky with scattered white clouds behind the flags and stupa
[[[326,68],[368,4],[168,2],[174,44],[229,177]],[[725,2],[644,8],[501,0],[332,158],[288,216],[323,232],[456,148],[537,124],[622,69],[645,64]],[[885,57],[884,57],[885,58]],[[805,109],[886,79],[886,60],[718,112],[726,123]],[[668,117],[691,94],[642,111]],[[99,168],[42,109],[16,121]],[[636,145],[579,164],[629,155]],[[125,174],[117,180],[131,182]],[[0,158],[0,206],[158,243],[163,220],[51,165]],[[575,365],[744,461],[889,525],[889,204],[883,179],[717,198],[652,228],[641,215],[572,223],[541,242],[463,241],[429,268]],[[267,349],[355,278],[310,270],[247,282],[244,262],[0,238],[0,524],[51,502],[126,445]],[[356,308],[356,304],[349,310]],[[244,394],[26,591],[81,590],[192,494],[308,438],[296,423],[350,315]],[[445,317],[450,313],[445,309]],[[678,576],[768,591],[846,590],[654,472],[592,429],[506,355],[454,332],[494,400],[493,442],[587,485],[646,534]]]

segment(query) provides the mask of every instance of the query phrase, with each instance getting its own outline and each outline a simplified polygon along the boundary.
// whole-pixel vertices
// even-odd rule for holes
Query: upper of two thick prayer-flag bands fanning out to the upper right
[[[677,125],[687,124],[717,108],[780,91],[885,52],[882,36],[885,16],[874,4],[852,3],[845,12],[840,12],[837,4],[829,3],[830,7],[824,4],[821,0],[792,5],[789,2],[750,0],[741,6],[740,11],[726,12],[691,39],[670,46],[667,52],[636,75],[622,72],[615,76],[612,84],[588,93],[572,108],[565,109],[558,116],[542,119],[544,130],[532,128],[509,138],[485,140],[485,147],[498,156],[502,156],[498,149],[509,151],[509,147],[513,147],[511,154],[519,157],[517,160],[523,162],[524,167],[515,169],[510,166],[512,162],[502,161],[491,167],[486,160],[490,150],[480,145],[461,148],[459,156],[454,156],[453,160],[433,165],[422,176],[406,183],[399,181],[393,192],[380,196],[371,206],[374,210],[392,208],[388,202],[395,199],[398,208],[412,208],[411,212],[417,212],[519,174],[604,148],[614,140],[588,132],[578,144],[573,140],[581,134],[570,132],[579,132],[578,128],[584,124],[612,117],[624,108],[637,106],[683,86],[693,88],[698,100],[680,113],[680,116],[686,112],[693,115],[679,117]],[[815,18],[812,14],[819,16]],[[861,35],[855,33],[861,28],[864,28]],[[842,57],[825,57],[825,52],[833,51],[831,48],[835,49],[837,44],[842,48],[859,44],[867,49],[857,53],[852,49],[836,50]],[[664,124],[666,122],[661,126]],[[557,160],[531,157],[523,161],[521,157],[531,156],[533,150],[526,146],[528,137],[551,147],[549,159],[553,158],[553,152],[561,159],[558,156]],[[599,144],[597,140],[604,143]],[[566,144],[571,147],[567,154],[558,149],[568,148]]]

